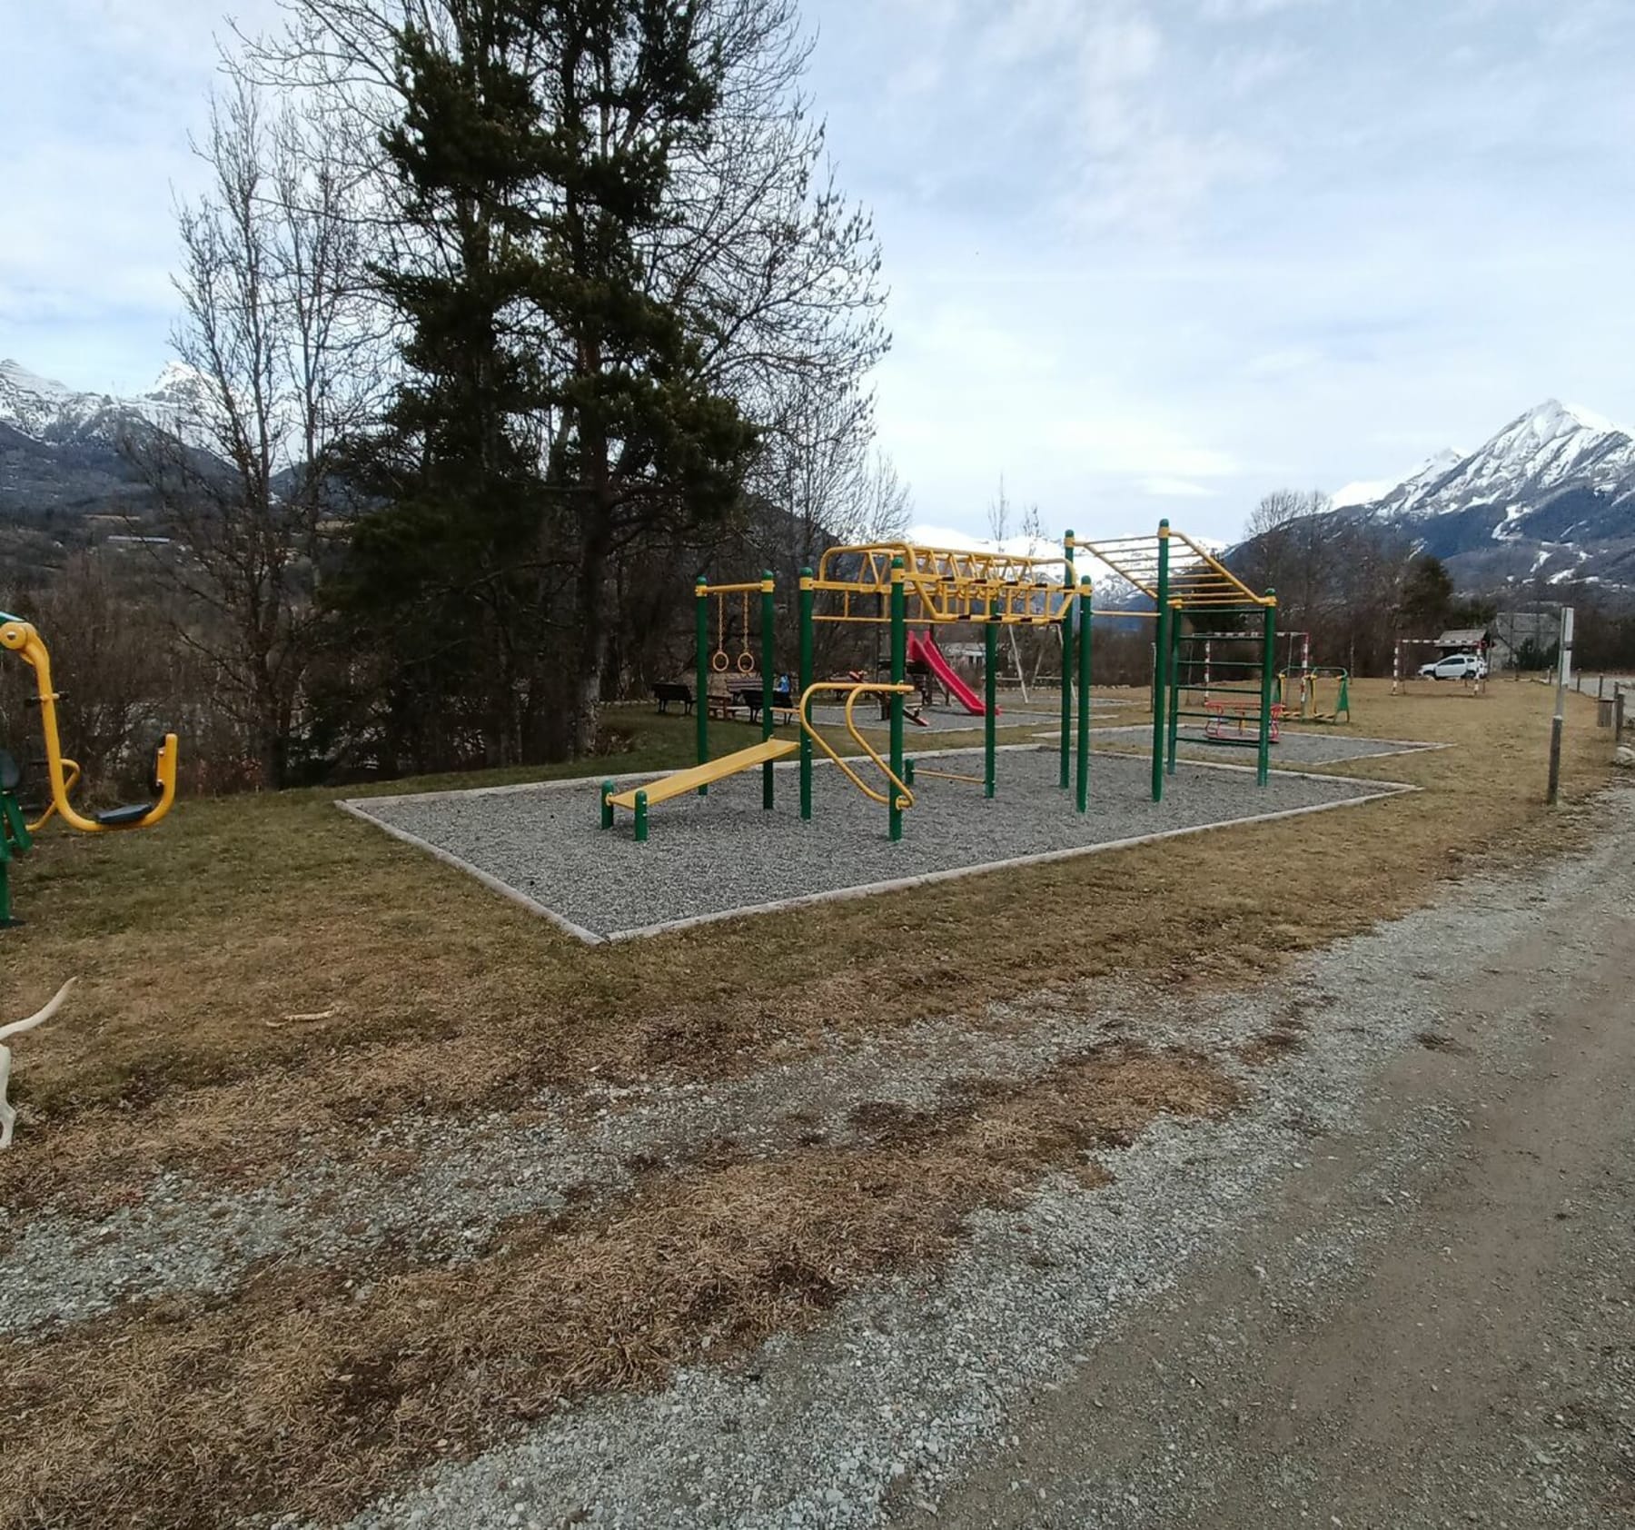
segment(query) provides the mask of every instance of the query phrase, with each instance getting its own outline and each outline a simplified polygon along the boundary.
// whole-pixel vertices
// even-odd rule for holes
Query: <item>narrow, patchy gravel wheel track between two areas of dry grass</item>
[[[981,1028],[906,1027],[749,1079],[541,1092],[517,1112],[526,1125],[505,1113],[399,1121],[345,1164],[324,1138],[302,1136],[284,1172],[249,1192],[165,1174],[111,1215],[0,1210],[0,1332],[75,1322],[142,1296],[224,1295],[263,1259],[348,1264],[391,1244],[394,1259],[459,1264],[510,1216],[628,1188],[631,1164],[662,1165],[719,1139],[752,1157],[795,1152],[813,1133],[845,1144],[858,1102],[929,1108],[958,1079],[1033,1079],[1099,1040],[1100,1022],[1063,1015],[1041,995],[996,1005]]]

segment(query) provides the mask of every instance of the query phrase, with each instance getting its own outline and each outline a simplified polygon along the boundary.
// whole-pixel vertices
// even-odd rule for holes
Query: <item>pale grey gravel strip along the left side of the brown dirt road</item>
[[[476,1461],[433,1471],[355,1527],[839,1530],[937,1512],[973,1463],[1004,1442],[1020,1447],[1014,1412],[1071,1385],[1092,1350],[1159,1311],[1190,1272],[1239,1247],[1272,1188],[1298,1183],[1324,1138],[1360,1138],[1382,1077],[1404,1051],[1439,1048],[1450,1017],[1494,974],[1511,1002],[1486,1018],[1476,1066],[1491,1079],[1524,1066],[1553,989],[1588,953],[1627,942],[1635,794],[1610,793],[1591,811],[1607,834],[1583,858],[1472,878],[1437,906],[1315,955],[1254,992],[1127,997],[1122,1015],[1100,1013],[1104,1035],[1179,1040],[1212,1054],[1297,1030],[1297,1049],[1252,1072],[1254,1098],[1238,1115],[1161,1121],[1133,1148],[1097,1156],[1115,1177],[1109,1188],[1051,1180],[1025,1208],[976,1218],[968,1249],[940,1272],[883,1283],[814,1332],[741,1363],[683,1371],[659,1394],[564,1409]],[[1504,966],[1519,951],[1524,973]],[[1357,1167],[1357,1182],[1386,1211],[1393,1187],[1457,1151],[1463,1118],[1427,1100],[1391,1115],[1390,1126]],[[1298,1280],[1337,1288],[1375,1236],[1373,1224],[1342,1221],[1300,1250]],[[1176,1476],[1162,1461],[1154,1470],[1158,1486]],[[1517,1507],[1517,1525],[1606,1523],[1586,1517],[1570,1471],[1517,1481],[1540,1505],[1532,1519]],[[1006,1523],[1197,1522],[1143,1517],[1141,1484],[1120,1484],[1135,1494],[1133,1504],[1115,1501],[1122,1519],[1087,1517],[1094,1499],[1074,1507],[1020,1478],[1014,1491],[1032,1507],[1012,1505]],[[1552,1507],[1550,1492],[1566,1507]],[[940,1522],[999,1522],[992,1499],[971,1510],[983,1517]]]

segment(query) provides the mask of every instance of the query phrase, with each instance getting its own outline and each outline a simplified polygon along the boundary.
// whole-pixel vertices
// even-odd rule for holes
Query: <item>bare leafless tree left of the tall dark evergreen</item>
[[[185,548],[159,559],[188,597],[181,634],[219,672],[276,788],[314,651],[337,456],[373,415],[384,366],[342,123],[268,114],[240,80],[196,152],[211,180],[178,211],[180,366],[160,428],[126,448]]]

